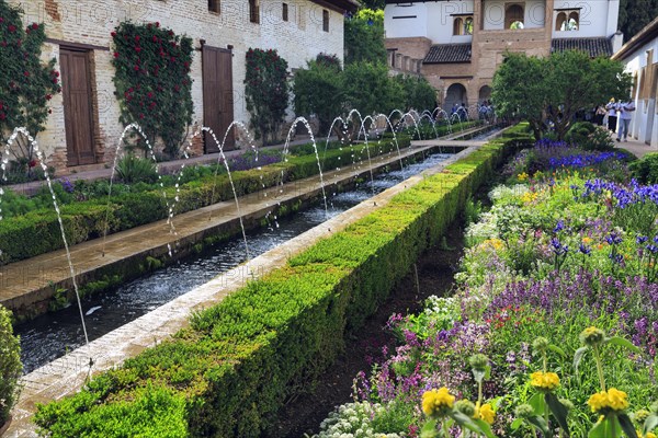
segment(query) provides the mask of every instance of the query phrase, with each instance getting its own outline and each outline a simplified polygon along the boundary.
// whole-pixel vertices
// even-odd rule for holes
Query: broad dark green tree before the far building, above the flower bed
[[[553,124],[563,139],[579,110],[611,96],[627,99],[631,77],[621,62],[591,59],[583,51],[559,51],[546,58],[508,54],[492,85],[498,114],[526,118],[537,138]]]

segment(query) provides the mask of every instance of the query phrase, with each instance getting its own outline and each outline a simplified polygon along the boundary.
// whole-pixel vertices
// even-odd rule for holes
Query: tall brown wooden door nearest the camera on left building
[[[59,64],[68,165],[93,164],[89,51],[60,48]]]

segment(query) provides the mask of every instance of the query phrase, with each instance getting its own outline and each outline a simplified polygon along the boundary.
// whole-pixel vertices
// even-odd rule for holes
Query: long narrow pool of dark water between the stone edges
[[[324,203],[288,218],[270,218],[270,226],[247,234],[249,254],[258,256],[274,246],[339,215],[374,194],[429,169],[451,157],[435,153],[401,171],[376,175],[374,181],[351,192],[327,193],[329,208]],[[126,283],[113,290],[83,300],[89,341],[133,321],[168,301],[209,281],[246,261],[241,237],[217,244],[205,252],[172,264],[148,276]],[[77,306],[47,313],[15,327],[21,336],[24,372],[46,365],[84,344]]]

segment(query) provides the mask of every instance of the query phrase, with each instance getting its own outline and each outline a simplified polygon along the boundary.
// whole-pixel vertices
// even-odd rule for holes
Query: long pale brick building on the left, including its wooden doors
[[[304,67],[319,53],[334,54],[342,60],[344,13],[356,9],[354,0],[9,3],[22,7],[25,23],[45,23],[48,38],[42,56],[55,58],[61,71],[63,93],[50,101],[53,113],[37,137],[48,165],[58,175],[99,169],[113,160],[124,126],[118,122],[114,95],[111,32],[121,22],[159,22],[193,39],[192,119],[197,126],[211,125],[223,137],[231,120],[249,120],[243,79],[245,55],[250,47],[276,49],[291,70]],[[216,151],[212,141],[194,142],[195,153],[212,151]]]

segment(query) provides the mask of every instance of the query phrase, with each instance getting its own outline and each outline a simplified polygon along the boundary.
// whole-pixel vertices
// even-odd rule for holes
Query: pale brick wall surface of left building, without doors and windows
[[[114,97],[111,65],[110,33],[122,21],[136,23],[160,22],[177,34],[193,38],[194,47],[200,39],[214,47],[232,46],[234,118],[248,123],[245,105],[245,54],[249,47],[276,49],[291,69],[305,67],[308,59],[320,53],[343,56],[343,15],[329,10],[329,32],[322,31],[325,8],[308,0],[285,1],[288,4],[288,21],[282,20],[282,1],[261,0],[260,24],[249,22],[248,2],[243,0],[222,1],[219,14],[208,12],[206,0],[9,0],[21,4],[26,23],[44,22],[46,34],[54,41],[95,46],[92,50],[92,103],[94,124],[94,150],[99,165],[110,163],[118,147],[123,126],[118,123],[120,108]],[[43,59],[58,58],[59,44],[44,45]],[[56,66],[59,69],[59,65]],[[201,51],[194,53],[191,66],[193,78],[193,122],[203,125],[203,82]],[[53,114],[46,130],[38,135],[42,150],[48,164],[63,175],[75,168],[66,165],[66,131],[61,95],[52,101]],[[290,114],[292,117],[292,113]],[[190,130],[190,135],[193,130]],[[245,141],[246,134],[239,134]],[[201,153],[198,142],[192,148]]]

